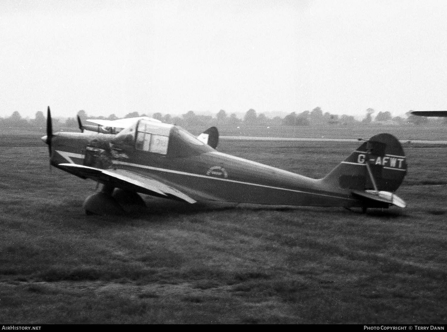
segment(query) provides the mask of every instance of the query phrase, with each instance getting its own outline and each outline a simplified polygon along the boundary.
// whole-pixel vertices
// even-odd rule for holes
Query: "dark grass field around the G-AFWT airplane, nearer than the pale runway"
[[[0,148],[2,323],[446,323],[444,147],[404,147],[406,209],[145,196],[148,210],[118,218],[84,215],[95,183],[50,170],[39,135],[4,134]],[[222,141],[219,151],[319,178],[357,146]]]

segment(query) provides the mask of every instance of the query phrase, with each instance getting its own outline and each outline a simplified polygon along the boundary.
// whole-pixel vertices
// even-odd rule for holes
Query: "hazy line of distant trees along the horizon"
[[[257,126],[312,126],[312,125],[424,125],[430,123],[443,123],[447,124],[447,118],[428,119],[423,116],[415,116],[407,112],[406,118],[395,116],[392,117],[390,112],[378,112],[374,117],[375,110],[368,108],[366,114],[362,120],[357,120],[354,116],[343,114],[341,116],[337,114],[331,114],[329,112],[323,112],[320,107],[312,109],[312,111],[304,111],[300,113],[291,112],[284,116],[274,116],[273,118],[267,117],[265,114],[257,114],[257,112],[250,108],[240,119],[236,113],[228,115],[226,111],[221,109],[215,116],[199,115],[194,111],[188,111],[182,115],[170,115],[156,112],[152,114],[154,119],[160,120],[164,123],[180,125],[182,127],[196,127],[196,126],[218,126],[218,127],[237,127],[240,125],[257,125]],[[85,123],[87,119],[102,119],[102,120],[117,120],[118,116],[111,114],[109,116],[94,116],[88,115],[84,110],[80,110],[77,115],[80,117],[82,123]],[[138,112],[127,113],[125,118],[148,116],[146,114],[139,114]],[[67,128],[77,128],[78,122],[76,117],[69,117],[65,120],[53,119],[53,125]],[[38,127],[43,128],[46,126],[46,118],[43,112],[38,111],[34,119],[22,118],[20,113],[15,111],[9,117],[0,117],[0,127]]]

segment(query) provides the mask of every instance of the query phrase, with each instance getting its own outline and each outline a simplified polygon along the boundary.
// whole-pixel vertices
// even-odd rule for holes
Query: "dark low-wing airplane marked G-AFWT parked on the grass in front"
[[[208,133],[215,136],[215,132]],[[217,134],[218,135],[218,134]],[[214,137],[215,139],[215,137]],[[407,163],[396,137],[363,143],[324,178],[313,179],[218,152],[176,125],[138,119],[115,135],[53,133],[47,110],[50,163],[102,184],[84,201],[87,214],[122,215],[122,205],[144,205],[138,194],[198,201],[362,208],[405,208],[394,191]]]

